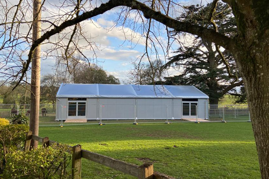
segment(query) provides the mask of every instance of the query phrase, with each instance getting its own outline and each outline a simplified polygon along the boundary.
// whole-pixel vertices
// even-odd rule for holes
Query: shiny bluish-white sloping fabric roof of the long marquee
[[[57,98],[209,98],[194,86],[62,83]]]

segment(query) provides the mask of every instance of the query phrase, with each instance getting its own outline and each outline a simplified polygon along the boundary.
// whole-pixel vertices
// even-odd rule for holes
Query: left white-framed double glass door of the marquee
[[[68,101],[68,118],[86,118],[86,101]]]

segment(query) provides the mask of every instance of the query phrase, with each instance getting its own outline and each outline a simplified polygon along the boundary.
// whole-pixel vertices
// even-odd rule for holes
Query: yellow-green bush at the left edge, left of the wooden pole
[[[0,174],[6,163],[6,155],[23,146],[25,143],[25,133],[29,127],[24,124],[5,125],[0,127]]]

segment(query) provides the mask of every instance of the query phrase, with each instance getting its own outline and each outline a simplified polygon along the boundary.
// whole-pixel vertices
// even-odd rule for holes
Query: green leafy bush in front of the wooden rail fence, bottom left
[[[3,176],[9,179],[71,178],[68,173],[59,172],[59,169],[71,162],[70,153],[65,152],[67,149],[67,145],[55,143],[50,147],[40,147],[27,152],[15,150],[7,155]]]

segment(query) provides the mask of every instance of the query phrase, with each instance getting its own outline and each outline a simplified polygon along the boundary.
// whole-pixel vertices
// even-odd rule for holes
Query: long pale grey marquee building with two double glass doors
[[[56,120],[208,118],[194,86],[63,83],[56,98]]]

